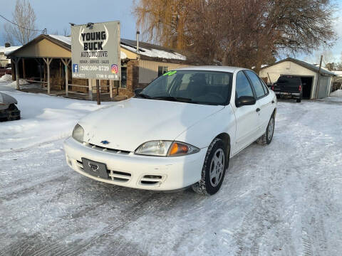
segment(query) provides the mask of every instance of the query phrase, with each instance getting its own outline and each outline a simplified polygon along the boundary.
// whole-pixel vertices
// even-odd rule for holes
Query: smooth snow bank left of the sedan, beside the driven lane
[[[18,101],[21,120],[1,122],[0,152],[68,137],[81,117],[99,108],[96,102],[9,90],[5,92]]]

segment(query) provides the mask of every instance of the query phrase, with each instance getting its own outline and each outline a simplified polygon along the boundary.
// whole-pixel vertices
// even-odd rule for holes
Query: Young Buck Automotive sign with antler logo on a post
[[[120,80],[120,22],[71,26],[73,78]]]

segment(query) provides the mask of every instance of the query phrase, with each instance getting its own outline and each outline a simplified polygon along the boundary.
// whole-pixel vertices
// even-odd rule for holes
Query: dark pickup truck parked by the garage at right
[[[278,80],[271,86],[276,97],[292,97],[301,102],[303,96],[303,85],[301,78],[295,75],[281,75]]]

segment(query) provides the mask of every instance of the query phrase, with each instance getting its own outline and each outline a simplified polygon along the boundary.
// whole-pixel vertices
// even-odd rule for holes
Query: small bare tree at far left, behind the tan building
[[[36,14],[27,0],[16,0],[12,22],[4,25],[6,41],[24,45],[36,37]]]

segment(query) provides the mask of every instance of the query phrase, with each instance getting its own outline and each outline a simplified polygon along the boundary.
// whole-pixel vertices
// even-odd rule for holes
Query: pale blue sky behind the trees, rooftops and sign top
[[[29,0],[37,16],[37,28],[47,28],[48,33],[58,31],[63,35],[64,28],[70,28],[69,22],[83,24],[88,22],[120,21],[121,37],[135,39],[135,17],[132,15],[133,0]],[[331,49],[338,61],[342,61],[342,0],[336,0],[339,17],[336,21],[338,41]],[[15,0],[0,0],[0,14],[10,18],[14,11]],[[0,18],[0,45],[4,45],[4,20]],[[321,50],[318,50],[321,51]],[[292,56],[308,61],[316,61],[316,55]]]

